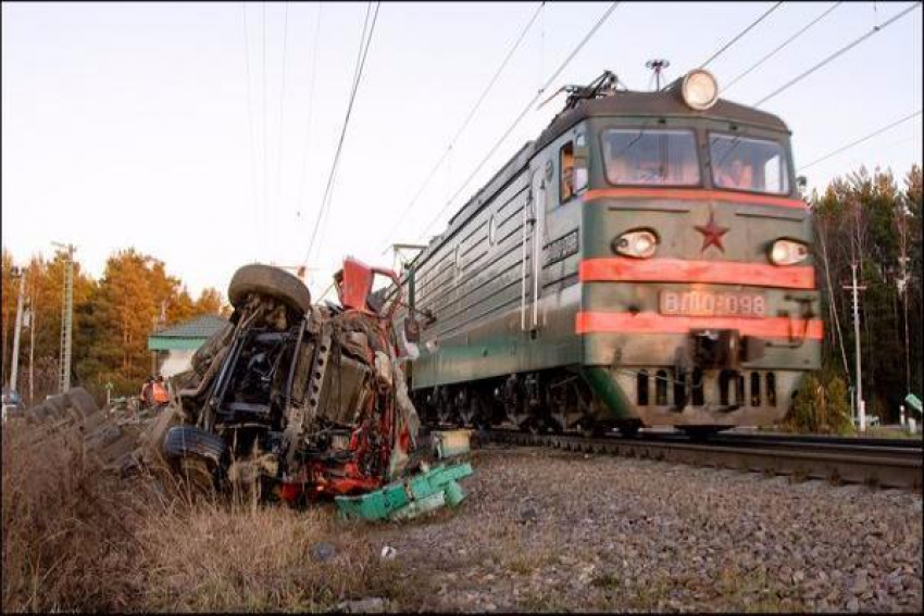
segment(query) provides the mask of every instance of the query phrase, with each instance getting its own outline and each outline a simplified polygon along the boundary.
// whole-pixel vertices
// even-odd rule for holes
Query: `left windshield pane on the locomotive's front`
[[[692,130],[611,128],[601,135],[607,179],[615,185],[696,186]]]

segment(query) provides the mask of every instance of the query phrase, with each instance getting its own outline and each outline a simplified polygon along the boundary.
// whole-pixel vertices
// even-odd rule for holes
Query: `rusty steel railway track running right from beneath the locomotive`
[[[783,435],[716,435],[694,441],[673,433],[640,433],[636,438],[577,435],[532,435],[492,429],[489,442],[551,447],[567,451],[641,457],[713,468],[787,475],[883,488],[921,490],[924,444],[921,440],[787,437]]]

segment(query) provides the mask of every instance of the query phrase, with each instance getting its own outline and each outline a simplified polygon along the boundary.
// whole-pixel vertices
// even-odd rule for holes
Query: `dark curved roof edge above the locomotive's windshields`
[[[552,120],[536,140],[536,148],[546,147],[564,130],[587,117],[620,115],[722,120],[789,133],[786,124],[772,113],[725,99],[719,99],[706,111],[697,111],[680,98],[679,81],[675,81],[657,92],[613,90],[601,98],[579,100],[574,108],[562,111]]]

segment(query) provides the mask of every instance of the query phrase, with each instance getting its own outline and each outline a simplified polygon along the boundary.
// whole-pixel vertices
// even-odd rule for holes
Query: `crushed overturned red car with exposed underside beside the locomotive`
[[[347,259],[340,304],[312,304],[288,272],[252,264],[228,287],[227,328],[192,357],[176,391],[179,424],[161,445],[200,487],[258,486],[286,501],[374,490],[409,469],[417,415],[392,326],[400,294],[373,293],[394,273]]]

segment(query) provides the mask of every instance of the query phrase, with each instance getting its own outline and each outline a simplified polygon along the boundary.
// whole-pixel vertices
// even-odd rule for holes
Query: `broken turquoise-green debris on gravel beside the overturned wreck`
[[[437,466],[360,496],[337,496],[340,515],[352,519],[410,519],[446,504],[457,506],[465,492],[457,482],[472,475],[472,465]]]

